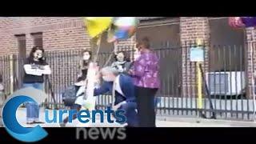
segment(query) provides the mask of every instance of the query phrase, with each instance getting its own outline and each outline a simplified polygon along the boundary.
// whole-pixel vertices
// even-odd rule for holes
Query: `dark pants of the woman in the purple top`
[[[158,89],[135,87],[139,127],[155,127],[154,96]]]

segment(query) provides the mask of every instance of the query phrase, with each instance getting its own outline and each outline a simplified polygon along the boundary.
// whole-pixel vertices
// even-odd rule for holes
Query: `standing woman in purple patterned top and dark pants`
[[[154,96],[160,87],[159,59],[150,50],[148,38],[138,42],[140,52],[129,74],[134,78],[140,127],[155,127]]]

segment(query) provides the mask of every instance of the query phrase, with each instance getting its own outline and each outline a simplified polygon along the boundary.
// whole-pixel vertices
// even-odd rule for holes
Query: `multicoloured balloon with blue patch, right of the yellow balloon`
[[[118,17],[114,18],[113,21],[108,31],[108,42],[127,39],[134,35],[138,24],[135,17]]]

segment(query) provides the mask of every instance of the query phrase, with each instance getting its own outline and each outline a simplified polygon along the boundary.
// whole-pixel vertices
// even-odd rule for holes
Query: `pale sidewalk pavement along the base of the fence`
[[[50,110],[50,116],[52,115],[53,110]],[[21,123],[22,126],[25,127],[34,127],[36,125],[27,125],[26,124],[26,109],[20,108],[16,117],[18,122]],[[44,112],[40,110],[40,120],[44,122]],[[50,117],[52,118],[52,117]],[[113,118],[111,118],[113,119]],[[2,119],[0,122],[0,126],[2,123]],[[242,121],[228,121],[228,120],[213,120],[213,119],[202,119],[202,118],[182,118],[177,116],[158,116],[156,121],[157,127],[256,127],[256,122],[242,122]],[[58,123],[54,124],[40,124],[42,127],[59,127]],[[74,122],[66,125],[67,127],[122,127],[117,122],[108,123],[106,122],[106,118],[104,118],[104,122],[101,123],[98,118],[96,118],[96,123],[90,122],[83,124],[78,122],[78,119],[74,120]]]

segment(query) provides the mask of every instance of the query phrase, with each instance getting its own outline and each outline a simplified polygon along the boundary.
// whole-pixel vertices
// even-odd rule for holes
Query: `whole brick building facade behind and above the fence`
[[[213,20],[212,20],[213,19]],[[213,40],[213,31],[211,28],[211,21],[216,18],[209,17],[180,17],[180,18],[140,18],[140,25],[137,34],[126,40],[118,43],[118,47],[134,47],[136,38],[142,36],[149,36],[156,47],[158,46],[186,46],[186,42],[194,41],[196,38],[202,38],[207,44],[215,41]],[[217,18],[218,19],[218,18]],[[223,19],[223,18],[220,18]],[[225,22],[226,19],[224,18]],[[227,23],[227,22],[226,22]],[[226,24],[227,25],[227,24]],[[34,18],[0,18],[0,56],[6,54],[19,54],[18,38],[26,38],[26,51],[35,43],[35,35],[41,34],[42,45],[46,51],[53,50],[82,50],[90,48],[90,38],[86,34],[86,27],[82,22],[82,18],[76,17],[34,17]],[[256,42],[256,30],[248,28],[245,30],[245,42]],[[167,43],[162,44],[162,41]],[[217,42],[217,40],[216,40]],[[234,41],[235,42],[235,41]],[[161,44],[160,44],[161,43]],[[232,44],[232,42],[230,42]],[[103,47],[112,45],[102,41]],[[104,48],[105,49],[105,48]],[[107,48],[105,49],[107,50]],[[209,58],[206,48],[206,62],[204,69],[209,70]],[[103,50],[104,51],[104,50]],[[181,51],[181,84],[183,95],[186,93],[195,94],[195,67],[190,65],[190,59],[187,57],[188,50]],[[246,74],[251,78],[251,56],[250,50],[246,50]],[[256,53],[256,50],[255,50]],[[253,65],[256,64],[256,58],[253,58]],[[164,70],[163,70],[164,71]],[[256,66],[254,66],[256,71]],[[3,73],[3,71],[2,71]],[[171,72],[172,73],[172,72]],[[185,85],[186,84],[186,85]],[[251,82],[247,83],[251,86]],[[184,90],[188,89],[188,90]],[[190,91],[192,90],[192,91]],[[251,89],[248,89],[251,94]]]

